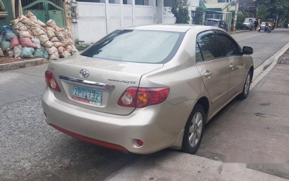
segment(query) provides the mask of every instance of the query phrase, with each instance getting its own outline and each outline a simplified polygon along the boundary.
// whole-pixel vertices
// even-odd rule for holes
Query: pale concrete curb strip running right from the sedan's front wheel
[[[284,45],[280,50],[278,50],[274,55],[272,55],[261,65],[254,69],[254,75],[250,90],[252,90],[258,84],[258,82],[261,81],[269,73],[269,71],[272,70],[272,68],[277,64],[279,57],[282,56],[288,48],[289,42]]]

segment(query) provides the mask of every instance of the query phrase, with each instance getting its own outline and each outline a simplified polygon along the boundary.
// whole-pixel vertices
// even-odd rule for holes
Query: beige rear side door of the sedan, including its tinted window
[[[196,66],[208,90],[213,112],[226,101],[229,86],[229,61],[222,57],[214,31],[205,31],[197,36]]]

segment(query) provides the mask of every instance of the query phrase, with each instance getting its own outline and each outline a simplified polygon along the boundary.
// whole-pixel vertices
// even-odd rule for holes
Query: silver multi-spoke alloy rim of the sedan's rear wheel
[[[201,131],[203,131],[203,116],[198,112],[193,116],[189,129],[189,143],[191,147],[195,147],[199,142]]]

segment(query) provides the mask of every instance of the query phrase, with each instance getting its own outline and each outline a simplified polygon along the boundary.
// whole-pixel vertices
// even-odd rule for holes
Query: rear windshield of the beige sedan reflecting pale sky
[[[116,30],[81,55],[140,63],[165,63],[177,52],[183,32]]]

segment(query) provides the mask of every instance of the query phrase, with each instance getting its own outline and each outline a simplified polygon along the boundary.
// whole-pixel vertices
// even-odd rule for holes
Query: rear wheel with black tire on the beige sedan
[[[196,104],[190,114],[184,131],[182,151],[195,154],[204,134],[206,117],[203,106]]]

